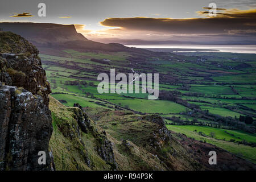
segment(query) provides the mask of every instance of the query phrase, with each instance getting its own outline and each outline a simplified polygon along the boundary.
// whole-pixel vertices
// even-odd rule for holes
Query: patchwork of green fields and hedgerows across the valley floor
[[[212,143],[256,162],[256,56],[187,52],[131,55],[129,52],[41,54],[52,97],[66,106],[130,110],[161,115],[168,129]],[[202,61],[204,60],[204,61]],[[97,92],[99,73],[159,73],[159,99],[148,94]],[[116,82],[117,83],[117,82]],[[196,131],[195,131],[196,130]],[[199,133],[200,131],[200,133]]]

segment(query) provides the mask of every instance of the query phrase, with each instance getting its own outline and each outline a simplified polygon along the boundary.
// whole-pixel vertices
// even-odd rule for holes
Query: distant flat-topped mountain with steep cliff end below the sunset
[[[77,51],[150,53],[144,49],[129,48],[118,43],[104,44],[88,40],[82,34],[77,33],[73,24],[0,23],[0,28],[3,28],[3,31],[11,31],[26,38],[38,47],[40,52],[47,53],[51,49],[75,49]]]

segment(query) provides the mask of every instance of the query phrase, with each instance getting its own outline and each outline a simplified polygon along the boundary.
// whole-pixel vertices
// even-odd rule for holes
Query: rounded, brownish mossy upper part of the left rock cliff
[[[0,47],[0,81],[42,96],[44,104],[48,106],[51,89],[38,49],[11,32],[0,32],[0,41],[5,43]]]

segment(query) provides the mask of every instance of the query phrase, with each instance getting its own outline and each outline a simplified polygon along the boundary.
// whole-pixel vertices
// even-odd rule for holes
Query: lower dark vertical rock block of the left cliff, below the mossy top
[[[41,96],[15,86],[0,89],[0,169],[47,170],[51,159],[51,113]],[[38,152],[46,152],[46,164],[38,164]]]

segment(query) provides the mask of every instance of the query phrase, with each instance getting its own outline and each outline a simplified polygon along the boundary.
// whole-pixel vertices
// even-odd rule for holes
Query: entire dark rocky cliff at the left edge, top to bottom
[[[49,170],[51,93],[38,49],[11,32],[0,32],[0,169]],[[39,151],[46,164],[39,164]]]

